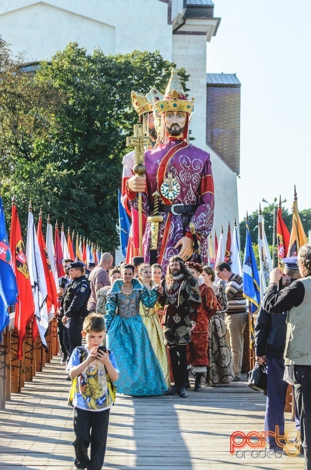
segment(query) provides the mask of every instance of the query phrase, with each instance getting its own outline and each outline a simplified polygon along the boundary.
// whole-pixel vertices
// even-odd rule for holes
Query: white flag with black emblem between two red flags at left
[[[32,294],[35,302],[35,317],[37,319],[42,344],[47,349],[44,337],[44,334],[48,328],[46,306],[47,288],[39,242],[36,234],[33,214],[31,211],[28,212],[26,257],[28,262]]]

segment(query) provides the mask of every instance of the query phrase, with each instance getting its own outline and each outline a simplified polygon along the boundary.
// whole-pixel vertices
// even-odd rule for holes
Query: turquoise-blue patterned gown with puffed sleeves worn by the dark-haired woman
[[[113,351],[120,371],[117,391],[124,395],[162,395],[167,385],[139,315],[139,302],[153,307],[157,293],[155,289],[148,291],[137,279],[132,283],[133,290],[126,295],[121,290],[123,281],[116,280],[106,303],[107,348]]]

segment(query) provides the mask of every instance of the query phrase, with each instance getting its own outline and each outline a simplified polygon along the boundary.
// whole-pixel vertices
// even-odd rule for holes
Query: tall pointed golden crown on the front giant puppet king
[[[167,84],[164,97],[154,100],[154,107],[159,113],[164,111],[183,111],[191,114],[194,108],[194,98],[190,101],[183,91],[177,70],[172,70],[171,78]]]

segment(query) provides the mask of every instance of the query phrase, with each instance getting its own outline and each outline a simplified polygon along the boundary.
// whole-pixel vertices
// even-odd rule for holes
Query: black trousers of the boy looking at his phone
[[[74,463],[78,469],[101,470],[104,464],[110,409],[88,411],[74,408]],[[90,445],[90,458],[88,447]]]

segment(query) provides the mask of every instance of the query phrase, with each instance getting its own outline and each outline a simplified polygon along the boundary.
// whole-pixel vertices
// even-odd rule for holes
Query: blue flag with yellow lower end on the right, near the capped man
[[[243,296],[250,302],[250,324],[249,324],[249,344],[253,349],[255,333],[253,324],[253,313],[258,312],[260,304],[260,282],[256,259],[250,239],[248,222],[246,222],[246,242],[244,252],[244,263],[242,268],[243,276]]]

